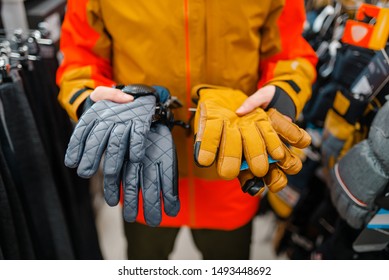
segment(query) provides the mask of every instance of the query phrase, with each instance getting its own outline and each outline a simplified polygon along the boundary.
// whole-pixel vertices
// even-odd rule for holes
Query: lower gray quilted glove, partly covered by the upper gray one
[[[133,222],[138,215],[138,193],[142,190],[146,223],[158,226],[164,211],[176,216],[178,200],[178,169],[176,149],[167,126],[153,124],[146,142],[146,154],[141,162],[127,161],[123,167],[124,219]],[[162,193],[162,194],[161,194]]]

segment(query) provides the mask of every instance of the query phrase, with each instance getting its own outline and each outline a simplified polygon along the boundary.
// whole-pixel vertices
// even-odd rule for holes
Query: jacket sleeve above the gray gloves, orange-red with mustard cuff
[[[111,40],[97,0],[68,0],[61,30],[63,60],[57,71],[58,100],[76,120],[77,109],[100,85],[111,86]]]

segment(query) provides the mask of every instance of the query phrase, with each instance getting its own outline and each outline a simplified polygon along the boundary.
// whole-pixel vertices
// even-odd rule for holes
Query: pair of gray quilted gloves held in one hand
[[[79,176],[89,178],[106,150],[103,173],[107,203],[117,205],[123,179],[124,219],[136,219],[142,189],[146,223],[157,226],[162,219],[161,193],[167,215],[176,216],[180,210],[176,150],[168,128],[174,122],[173,115],[163,104],[157,104],[154,115],[156,100],[167,102],[170,93],[158,86],[130,85],[121,89],[136,97],[135,101],[100,101],[86,107],[89,109],[70,139],[65,164],[78,166]],[[158,121],[151,124],[152,119]]]

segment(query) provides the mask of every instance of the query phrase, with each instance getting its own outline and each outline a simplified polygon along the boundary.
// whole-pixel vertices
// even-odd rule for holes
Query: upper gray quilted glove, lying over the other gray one
[[[140,163],[145,155],[146,138],[155,113],[155,90],[143,85],[130,88],[137,98],[118,104],[101,100],[80,118],[70,138],[65,165],[78,167],[80,177],[96,173],[105,151],[104,196],[110,206],[119,202],[121,170],[125,156]],[[124,91],[124,89],[123,89]],[[142,95],[137,96],[137,93]]]

